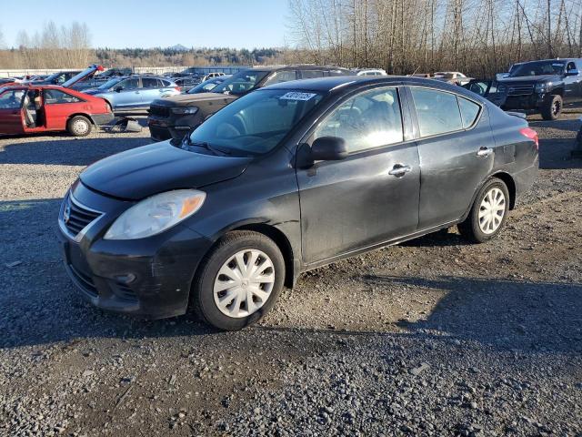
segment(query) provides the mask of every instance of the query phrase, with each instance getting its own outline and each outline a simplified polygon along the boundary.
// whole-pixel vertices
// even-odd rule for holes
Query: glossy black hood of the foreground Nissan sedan
[[[86,187],[105,195],[139,200],[171,189],[201,188],[236,178],[251,160],[194,153],[164,141],[97,161],[79,178]]]

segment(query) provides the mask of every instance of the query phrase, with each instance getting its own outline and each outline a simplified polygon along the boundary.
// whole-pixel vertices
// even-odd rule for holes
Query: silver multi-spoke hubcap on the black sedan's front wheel
[[[228,317],[246,317],[259,310],[275,285],[273,261],[265,252],[236,252],[218,270],[214,296],[216,307]]]

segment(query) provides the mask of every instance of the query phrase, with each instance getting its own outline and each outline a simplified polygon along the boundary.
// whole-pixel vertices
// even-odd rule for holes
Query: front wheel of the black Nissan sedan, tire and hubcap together
[[[261,270],[245,278],[246,269],[240,269],[236,259],[245,267],[255,259],[252,265]],[[241,274],[236,276],[236,272]],[[273,307],[284,279],[285,260],[276,243],[258,232],[236,230],[220,239],[203,259],[193,281],[191,303],[196,315],[209,325],[241,330]]]

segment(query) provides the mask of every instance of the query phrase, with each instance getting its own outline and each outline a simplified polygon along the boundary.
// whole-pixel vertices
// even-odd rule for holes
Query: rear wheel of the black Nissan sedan
[[[494,208],[487,212],[486,198],[494,198]],[[509,191],[503,180],[491,178],[477,193],[467,219],[457,225],[461,235],[474,243],[494,239],[503,229],[509,212]],[[497,203],[498,202],[498,203]],[[489,205],[491,202],[487,202]],[[479,216],[482,216],[479,218]]]

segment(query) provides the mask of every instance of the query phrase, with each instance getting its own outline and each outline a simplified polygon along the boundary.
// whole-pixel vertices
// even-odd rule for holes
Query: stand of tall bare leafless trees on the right
[[[582,56],[580,0],[289,0],[289,11],[291,37],[316,64],[491,76]]]

